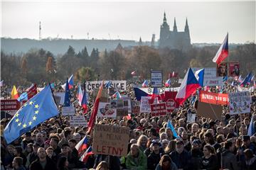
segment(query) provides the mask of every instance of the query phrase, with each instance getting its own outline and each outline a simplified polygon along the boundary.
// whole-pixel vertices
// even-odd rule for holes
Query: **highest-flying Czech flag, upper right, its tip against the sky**
[[[220,64],[225,58],[228,57],[228,34],[226,35],[223,43],[220,45],[218,52],[213,58],[213,62]]]

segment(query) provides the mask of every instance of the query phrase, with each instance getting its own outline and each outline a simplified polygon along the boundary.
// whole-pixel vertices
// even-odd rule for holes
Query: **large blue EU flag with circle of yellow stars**
[[[48,85],[17,111],[4,129],[4,139],[9,144],[55,115],[58,115],[58,108]]]

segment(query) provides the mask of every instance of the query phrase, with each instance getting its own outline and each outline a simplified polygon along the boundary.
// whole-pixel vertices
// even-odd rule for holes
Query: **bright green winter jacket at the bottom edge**
[[[141,149],[139,149],[139,156],[137,158],[134,158],[131,152],[129,152],[129,154],[127,154],[126,166],[127,166],[127,169],[137,169],[137,170],[146,169],[147,168],[146,155],[141,151]]]

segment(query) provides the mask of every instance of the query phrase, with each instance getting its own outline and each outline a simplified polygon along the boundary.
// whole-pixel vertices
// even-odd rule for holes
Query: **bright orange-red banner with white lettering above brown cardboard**
[[[200,91],[199,101],[218,105],[228,105],[228,94],[215,94],[208,91]]]

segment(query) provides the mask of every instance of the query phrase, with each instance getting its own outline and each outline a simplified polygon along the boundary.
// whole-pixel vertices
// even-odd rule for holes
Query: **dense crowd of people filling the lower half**
[[[121,91],[121,94],[136,100],[132,87],[133,84],[128,84],[127,91]],[[2,99],[10,98],[10,89],[10,86],[1,86]],[[24,89],[19,88],[19,93]],[[55,91],[63,89],[55,84]],[[235,91],[235,87],[225,84],[223,89],[212,87],[208,91],[228,93]],[[76,87],[71,90],[71,103],[75,113],[83,115],[75,94]],[[251,91],[251,96],[250,113],[230,115],[228,107],[223,106],[221,120],[196,116],[194,123],[187,123],[188,111],[196,113],[196,102],[192,102],[192,98],[172,113],[160,117],[132,113],[130,119],[125,116],[120,119],[97,118],[99,124],[130,129],[127,156],[92,154],[86,162],[80,161],[82,153],[78,153],[75,145],[87,135],[87,127],[70,126],[68,116],[50,118],[8,145],[1,135],[1,169],[256,169],[256,135],[247,135],[250,120],[256,121],[256,91]],[[92,113],[92,100],[90,97],[87,118]],[[1,125],[5,128],[10,120],[3,118]],[[174,125],[178,137],[167,128],[168,120]],[[93,136],[88,137],[88,145],[92,145]]]

